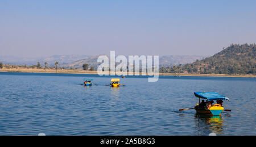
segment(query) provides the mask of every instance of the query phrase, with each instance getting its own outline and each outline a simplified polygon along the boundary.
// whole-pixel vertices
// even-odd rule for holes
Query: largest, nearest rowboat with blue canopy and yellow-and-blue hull
[[[197,114],[200,114],[200,115],[209,115],[209,116],[221,115],[221,112],[224,110],[224,107],[222,107],[222,102],[223,102],[222,100],[229,100],[229,98],[227,98],[226,96],[220,95],[218,93],[195,92],[194,94],[196,97],[199,98],[199,104],[200,104],[200,99],[206,99],[208,103],[214,102],[214,100],[217,101],[217,104],[214,104],[212,107],[209,107],[209,108],[207,106],[200,106],[199,104],[197,104],[197,106],[195,107],[195,110]]]

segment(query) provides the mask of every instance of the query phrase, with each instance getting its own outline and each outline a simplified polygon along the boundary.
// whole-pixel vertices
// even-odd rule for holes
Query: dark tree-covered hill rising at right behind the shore
[[[256,45],[232,44],[212,57],[181,67],[184,73],[256,74]]]

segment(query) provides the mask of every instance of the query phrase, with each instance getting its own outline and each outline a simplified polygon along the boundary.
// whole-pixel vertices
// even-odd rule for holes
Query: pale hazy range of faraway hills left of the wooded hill
[[[89,64],[97,68],[101,63],[97,63],[97,56],[88,56],[88,55],[53,55],[46,58],[24,58],[24,57],[12,57],[12,56],[0,56],[0,62],[3,64],[13,64],[13,65],[36,65],[37,62],[40,62],[41,65],[44,62],[48,63],[48,66],[54,66],[55,62],[59,62],[59,66],[63,68],[77,68],[82,69],[82,64]],[[188,64],[196,60],[201,60],[205,56],[159,56],[159,65],[160,66],[172,66],[179,64]],[[127,57],[128,58],[128,57]]]

